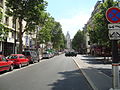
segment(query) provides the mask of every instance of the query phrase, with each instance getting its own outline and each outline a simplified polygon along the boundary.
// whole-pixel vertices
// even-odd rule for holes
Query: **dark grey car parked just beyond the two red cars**
[[[25,50],[22,52],[23,55],[25,55],[29,59],[29,63],[39,62],[39,55],[37,52],[32,50]]]

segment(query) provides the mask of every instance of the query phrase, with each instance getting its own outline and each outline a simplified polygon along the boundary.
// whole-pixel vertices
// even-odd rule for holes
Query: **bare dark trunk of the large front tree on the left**
[[[19,53],[22,53],[22,18],[19,18]]]

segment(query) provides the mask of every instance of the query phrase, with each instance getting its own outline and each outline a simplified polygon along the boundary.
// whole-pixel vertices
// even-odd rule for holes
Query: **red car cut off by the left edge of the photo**
[[[0,71],[12,71],[13,61],[8,61],[5,56],[0,55]]]

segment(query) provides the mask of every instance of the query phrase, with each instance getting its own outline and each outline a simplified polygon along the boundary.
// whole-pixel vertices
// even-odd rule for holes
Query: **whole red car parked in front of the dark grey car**
[[[14,66],[21,68],[23,65],[29,65],[29,60],[23,54],[11,54],[8,60],[13,61]]]

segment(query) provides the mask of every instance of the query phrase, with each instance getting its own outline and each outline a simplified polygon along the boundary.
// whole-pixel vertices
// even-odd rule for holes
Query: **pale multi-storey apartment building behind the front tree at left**
[[[2,20],[0,23],[2,23],[5,27],[5,29],[9,29],[8,36],[5,34],[1,35],[1,37],[4,38],[0,41],[0,51],[3,52],[5,56],[12,54],[12,53],[17,53],[18,52],[18,29],[19,29],[19,23],[18,19],[16,19],[16,24],[14,22],[13,17],[9,17],[8,15],[5,14],[6,11],[6,6],[5,6],[6,0],[0,0],[0,9],[2,13]],[[26,22],[23,21],[23,29],[26,25]],[[16,27],[16,28],[15,28]],[[24,34],[23,35],[23,49],[28,48],[34,44],[34,41],[32,39],[32,36]]]

